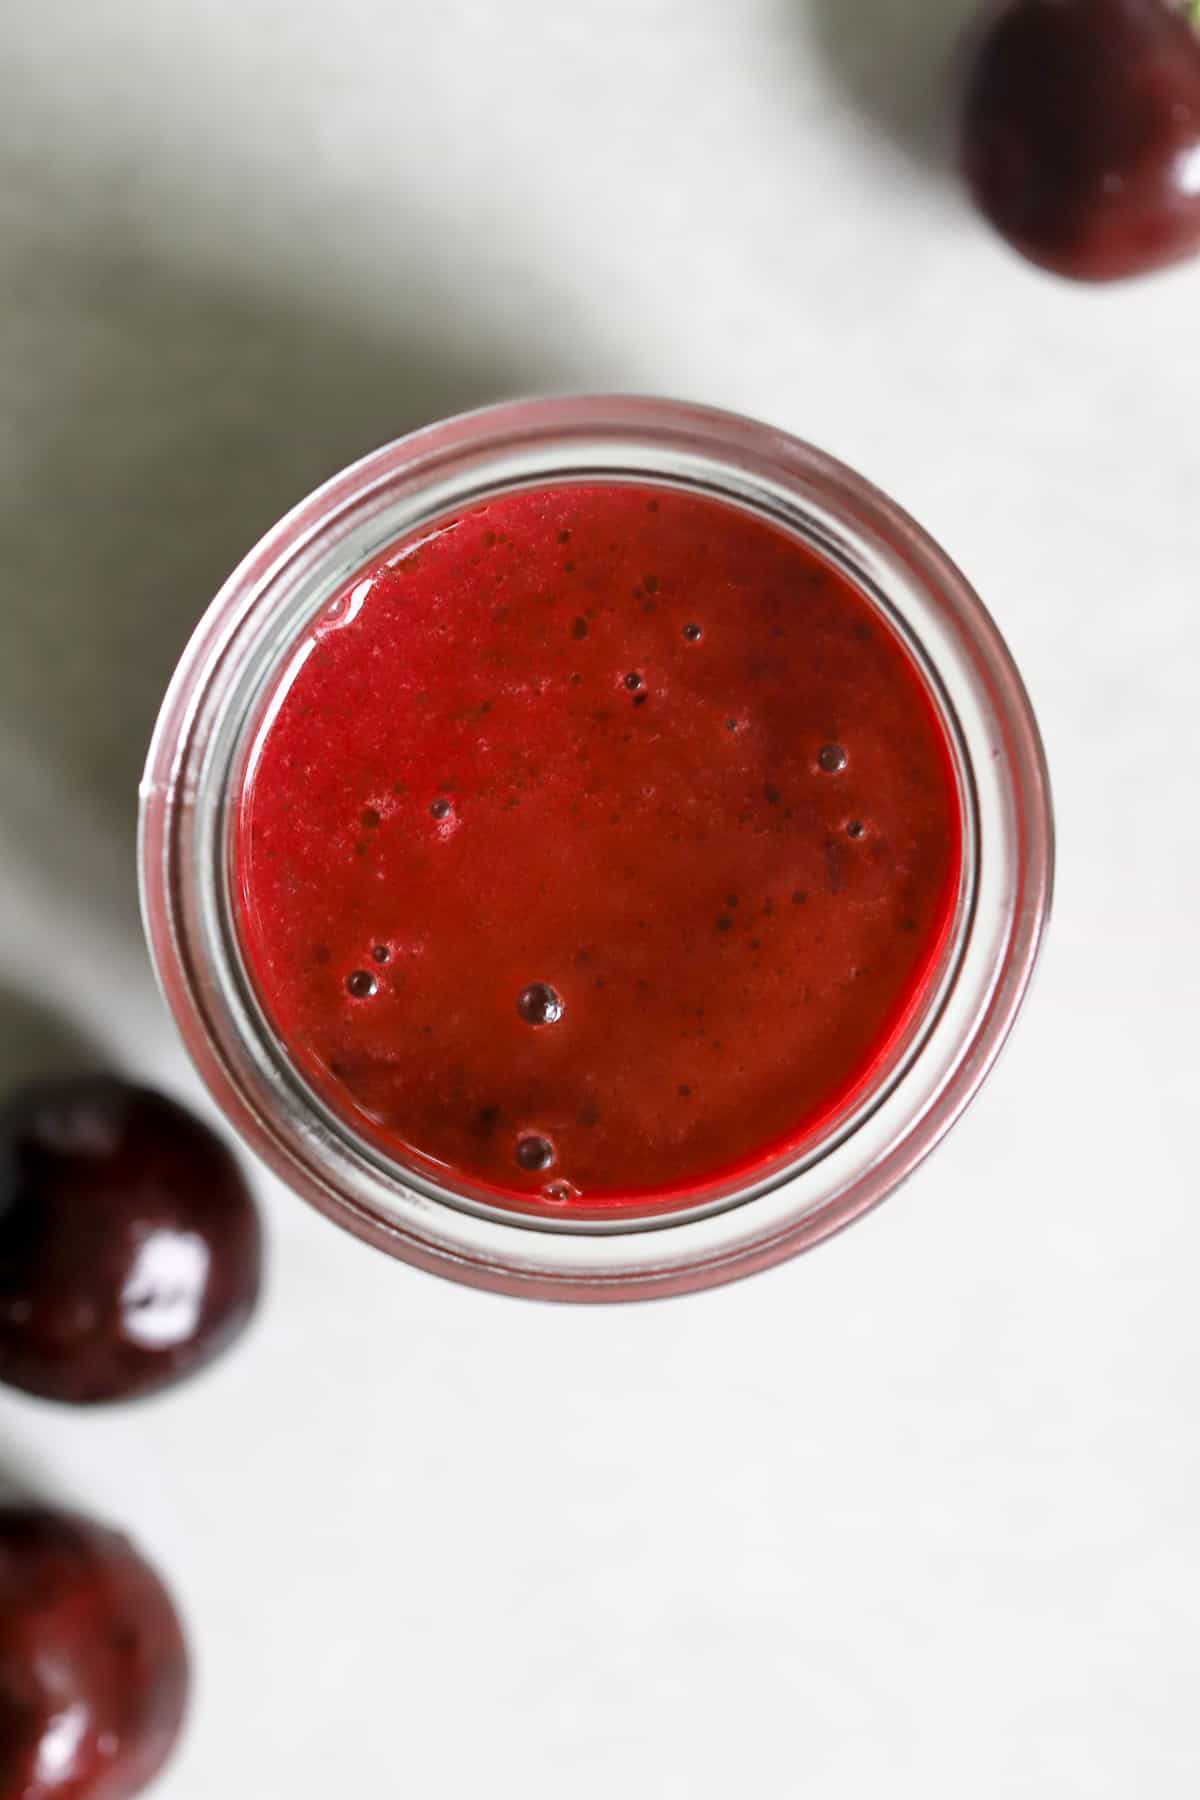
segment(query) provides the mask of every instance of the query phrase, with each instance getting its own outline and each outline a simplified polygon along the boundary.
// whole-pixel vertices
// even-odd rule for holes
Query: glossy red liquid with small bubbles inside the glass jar
[[[297,1066],[399,1161],[669,1208],[869,1082],[961,841],[921,677],[840,572],[718,500],[560,486],[398,547],[309,632],[246,772],[239,925]]]

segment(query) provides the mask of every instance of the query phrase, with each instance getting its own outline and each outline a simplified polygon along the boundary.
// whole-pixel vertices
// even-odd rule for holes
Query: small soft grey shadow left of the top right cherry
[[[955,61],[979,0],[784,0],[867,122],[916,162],[948,169]]]

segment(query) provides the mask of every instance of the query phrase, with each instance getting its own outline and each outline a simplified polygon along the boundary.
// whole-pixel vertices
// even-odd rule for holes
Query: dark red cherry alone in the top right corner
[[[1007,0],[986,18],[963,169],[1033,263],[1117,281],[1200,250],[1196,25],[1182,0]]]

